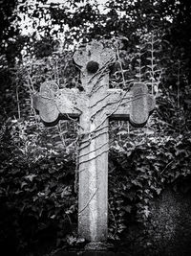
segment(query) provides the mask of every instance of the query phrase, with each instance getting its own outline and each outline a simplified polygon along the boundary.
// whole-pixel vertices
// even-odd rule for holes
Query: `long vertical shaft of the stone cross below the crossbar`
[[[93,102],[95,97],[96,94],[91,96]],[[79,152],[79,234],[90,241],[105,241],[108,219],[108,118],[95,105],[83,112],[80,124],[84,137]]]

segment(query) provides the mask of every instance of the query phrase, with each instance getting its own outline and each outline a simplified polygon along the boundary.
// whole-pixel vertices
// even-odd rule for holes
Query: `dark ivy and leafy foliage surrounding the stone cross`
[[[109,241],[130,255],[188,255],[191,3],[115,0],[100,12],[96,1],[66,2],[0,0],[2,255],[52,255],[86,244],[76,234],[77,121],[46,128],[32,95],[46,80],[80,88],[74,49],[92,39],[117,52],[111,87],[144,81],[157,100],[145,128],[110,123]],[[21,14],[32,19],[29,35]]]

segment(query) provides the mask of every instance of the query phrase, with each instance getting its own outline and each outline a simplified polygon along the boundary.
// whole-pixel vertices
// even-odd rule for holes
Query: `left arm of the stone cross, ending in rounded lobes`
[[[77,89],[59,89],[54,81],[45,81],[32,102],[41,119],[45,123],[53,123],[60,114],[65,118],[78,117],[82,111],[83,98],[83,93]]]

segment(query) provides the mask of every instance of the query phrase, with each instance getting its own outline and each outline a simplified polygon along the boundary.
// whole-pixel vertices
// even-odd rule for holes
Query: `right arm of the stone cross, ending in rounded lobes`
[[[142,82],[135,83],[129,92],[109,89],[107,93],[109,116],[129,120],[135,127],[144,126],[155,108],[155,98]]]

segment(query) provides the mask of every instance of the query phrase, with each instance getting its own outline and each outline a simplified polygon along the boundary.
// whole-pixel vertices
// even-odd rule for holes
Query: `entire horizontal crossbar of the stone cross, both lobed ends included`
[[[55,85],[53,81],[45,81],[40,93],[33,97],[33,106],[39,110],[41,119],[46,123],[55,121],[59,114],[66,118],[79,117],[91,107],[90,118],[94,118],[97,112],[105,111],[105,115],[111,119],[129,120],[133,126],[141,127],[155,108],[155,99],[148,94],[148,88],[142,82],[135,83],[130,92],[107,89],[106,84],[103,84],[101,86],[105,90],[98,96],[96,94],[96,97],[90,97],[78,89],[58,90]]]

